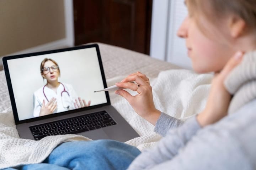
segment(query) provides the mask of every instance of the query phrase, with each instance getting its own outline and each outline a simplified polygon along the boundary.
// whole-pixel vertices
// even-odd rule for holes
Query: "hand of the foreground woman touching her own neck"
[[[215,73],[207,100],[206,108],[197,116],[198,123],[204,127],[216,123],[228,113],[231,95],[224,86],[224,80],[242,60],[242,52],[236,52],[220,73]]]

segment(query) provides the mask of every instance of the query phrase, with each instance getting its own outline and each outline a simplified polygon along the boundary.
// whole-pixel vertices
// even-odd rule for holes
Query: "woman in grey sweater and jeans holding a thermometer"
[[[256,0],[186,0],[186,5],[188,16],[177,34],[186,39],[193,69],[215,75],[202,113],[185,123],[162,113],[154,106],[149,79],[133,73],[117,85],[138,94],[116,94],[154,124],[162,140],[142,153],[116,141],[66,142],[44,163],[68,169],[256,169]]]

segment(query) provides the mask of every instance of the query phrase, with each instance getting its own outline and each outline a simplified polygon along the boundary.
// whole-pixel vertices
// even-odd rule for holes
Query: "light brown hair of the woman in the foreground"
[[[244,20],[247,30],[255,31],[256,0],[185,0],[185,3],[192,17],[204,16],[208,21],[218,25],[222,18],[233,14]],[[198,23],[199,17],[195,19]]]

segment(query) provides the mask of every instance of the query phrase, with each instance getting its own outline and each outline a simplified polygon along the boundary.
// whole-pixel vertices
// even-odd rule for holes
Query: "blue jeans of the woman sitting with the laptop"
[[[113,140],[73,141],[57,146],[42,163],[5,170],[122,170],[139,154],[136,147]]]

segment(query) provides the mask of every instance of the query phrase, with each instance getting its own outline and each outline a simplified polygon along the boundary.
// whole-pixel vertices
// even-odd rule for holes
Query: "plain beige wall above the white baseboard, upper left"
[[[0,56],[64,38],[64,0],[0,0]]]

